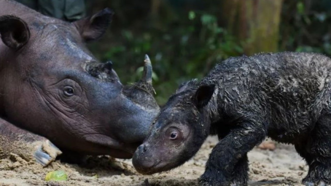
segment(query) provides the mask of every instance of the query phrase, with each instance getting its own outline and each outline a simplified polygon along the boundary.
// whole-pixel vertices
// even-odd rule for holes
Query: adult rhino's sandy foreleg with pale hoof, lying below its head
[[[62,152],[46,138],[18,128],[0,118],[0,159],[11,154],[27,161],[35,159],[46,166]]]

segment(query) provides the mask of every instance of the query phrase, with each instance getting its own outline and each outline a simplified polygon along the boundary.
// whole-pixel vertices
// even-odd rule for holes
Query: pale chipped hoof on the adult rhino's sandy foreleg
[[[45,167],[48,164],[52,163],[56,159],[56,157],[61,154],[62,152],[59,148],[57,148],[49,140],[46,140],[40,146],[38,146],[38,149],[34,152],[33,157],[38,163]]]

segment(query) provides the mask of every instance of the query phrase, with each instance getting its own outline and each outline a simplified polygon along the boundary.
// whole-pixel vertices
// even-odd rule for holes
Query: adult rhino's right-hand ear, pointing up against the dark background
[[[93,16],[75,21],[73,24],[85,41],[91,41],[98,39],[106,32],[107,27],[112,21],[113,14],[113,11],[105,8]]]

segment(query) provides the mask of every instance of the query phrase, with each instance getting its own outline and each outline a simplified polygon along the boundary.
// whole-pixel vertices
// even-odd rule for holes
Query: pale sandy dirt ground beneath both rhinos
[[[184,165],[149,176],[137,173],[131,160],[99,157],[89,159],[86,165],[94,168],[60,161],[42,168],[37,163],[11,157],[0,160],[0,186],[195,186],[216,143],[216,137],[209,137],[197,155]],[[274,151],[255,148],[248,158],[249,185],[252,186],[300,185],[307,174],[307,165],[291,145],[276,144]],[[68,181],[44,181],[46,173],[53,170],[66,171]]]

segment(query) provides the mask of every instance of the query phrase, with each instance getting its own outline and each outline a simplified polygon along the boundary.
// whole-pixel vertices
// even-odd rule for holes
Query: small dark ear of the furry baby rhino
[[[193,95],[193,103],[198,109],[205,107],[212,98],[215,85],[201,85]]]

